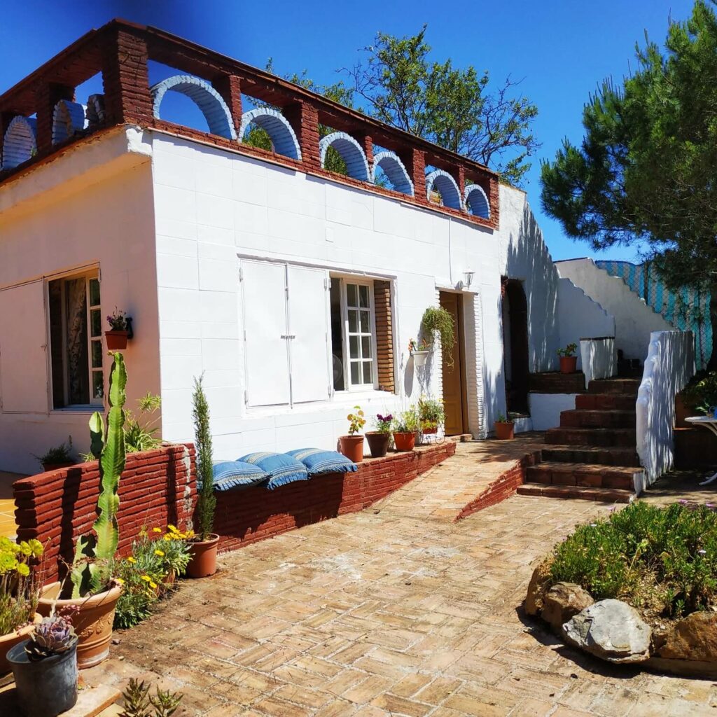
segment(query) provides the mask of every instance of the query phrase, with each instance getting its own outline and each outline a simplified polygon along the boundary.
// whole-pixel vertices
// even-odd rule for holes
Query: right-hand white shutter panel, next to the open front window
[[[328,277],[320,269],[289,267],[291,387],[294,403],[326,401],[328,371]]]

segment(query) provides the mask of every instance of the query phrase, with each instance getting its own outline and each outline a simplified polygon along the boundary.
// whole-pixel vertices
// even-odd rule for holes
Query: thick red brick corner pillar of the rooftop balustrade
[[[147,43],[141,37],[117,29],[108,38],[103,47],[102,65],[108,124],[152,123],[147,60]]]

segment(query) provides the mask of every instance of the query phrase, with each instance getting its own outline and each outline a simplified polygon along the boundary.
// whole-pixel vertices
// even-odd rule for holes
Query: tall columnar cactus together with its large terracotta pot
[[[121,353],[115,353],[110,373],[107,427],[98,412],[90,418],[90,451],[98,458],[100,495],[93,533],[75,543],[70,581],[46,585],[38,610],[44,616],[54,609],[77,607],[73,625],[77,632],[77,665],[80,669],[98,665],[110,652],[115,605],[122,586],[114,578],[115,554],[120,539],[117,513],[118,488],[125,469],[125,387],[127,372]]]

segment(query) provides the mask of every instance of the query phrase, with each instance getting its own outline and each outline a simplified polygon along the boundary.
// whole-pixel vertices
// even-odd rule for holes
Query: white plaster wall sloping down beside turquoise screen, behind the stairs
[[[652,331],[670,331],[673,327],[655,313],[644,300],[630,291],[625,282],[599,269],[592,259],[556,262],[563,278],[571,280],[597,301],[615,320],[615,343],[626,359],[645,361]],[[609,334],[604,334],[609,336]],[[581,333],[581,336],[599,336]]]

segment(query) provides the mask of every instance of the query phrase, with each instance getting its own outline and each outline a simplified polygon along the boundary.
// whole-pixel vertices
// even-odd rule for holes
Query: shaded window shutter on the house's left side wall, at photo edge
[[[0,290],[0,401],[5,413],[49,410],[42,281]]]

